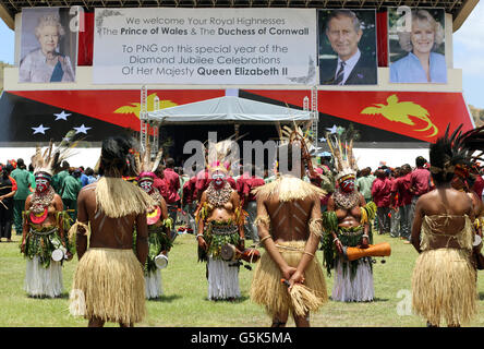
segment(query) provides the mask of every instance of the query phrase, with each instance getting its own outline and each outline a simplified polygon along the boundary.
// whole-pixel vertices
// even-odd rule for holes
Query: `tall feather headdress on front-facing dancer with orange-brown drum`
[[[350,124],[348,129],[339,127],[336,133],[326,133],[326,141],[338,171],[335,177],[338,182],[356,178],[358,165],[353,154],[353,143],[359,137],[360,134],[354,130],[353,124]]]

